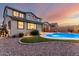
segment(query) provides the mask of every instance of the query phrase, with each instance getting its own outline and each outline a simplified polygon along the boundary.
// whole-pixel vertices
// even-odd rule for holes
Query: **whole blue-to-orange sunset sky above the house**
[[[79,4],[77,3],[0,3],[0,23],[3,21],[5,6],[33,12],[43,21],[58,23],[60,26],[79,25]]]

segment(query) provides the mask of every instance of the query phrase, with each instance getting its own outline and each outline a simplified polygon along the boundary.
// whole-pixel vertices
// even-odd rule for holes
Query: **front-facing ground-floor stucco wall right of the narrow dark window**
[[[25,35],[29,35],[32,30],[27,29],[27,23],[24,22],[24,29],[17,29],[17,21],[11,21],[11,36],[14,34],[24,33]],[[42,26],[37,24],[37,30],[39,32],[42,31]]]

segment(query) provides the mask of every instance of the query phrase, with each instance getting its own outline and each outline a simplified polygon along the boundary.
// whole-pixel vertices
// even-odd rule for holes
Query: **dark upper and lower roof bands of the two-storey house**
[[[37,16],[36,16],[34,13],[32,13],[32,12],[23,12],[23,11],[17,10],[17,9],[15,9],[15,8],[12,8],[12,7],[9,7],[9,6],[5,6],[4,12],[5,12],[5,10],[6,10],[7,8],[8,8],[8,9],[11,9],[11,10],[14,10],[14,11],[18,11],[18,12],[24,13],[25,15],[26,15],[26,14],[32,14],[32,15],[34,15],[37,19],[40,19],[40,20],[41,20],[41,18],[37,17]],[[27,20],[27,19],[25,19],[25,18],[17,18],[17,17],[9,16],[9,15],[7,15],[7,16],[10,17],[12,20],[15,20],[15,21],[23,21],[23,22],[31,22],[31,23],[43,24],[43,22]]]

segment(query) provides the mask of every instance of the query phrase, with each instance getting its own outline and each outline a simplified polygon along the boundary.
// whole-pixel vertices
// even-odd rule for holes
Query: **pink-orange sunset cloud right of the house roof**
[[[79,12],[79,4],[61,4],[47,10],[47,13],[42,17],[45,17],[49,22],[63,23],[68,19],[66,17],[71,16],[75,12]],[[72,21],[72,19],[70,20]]]

